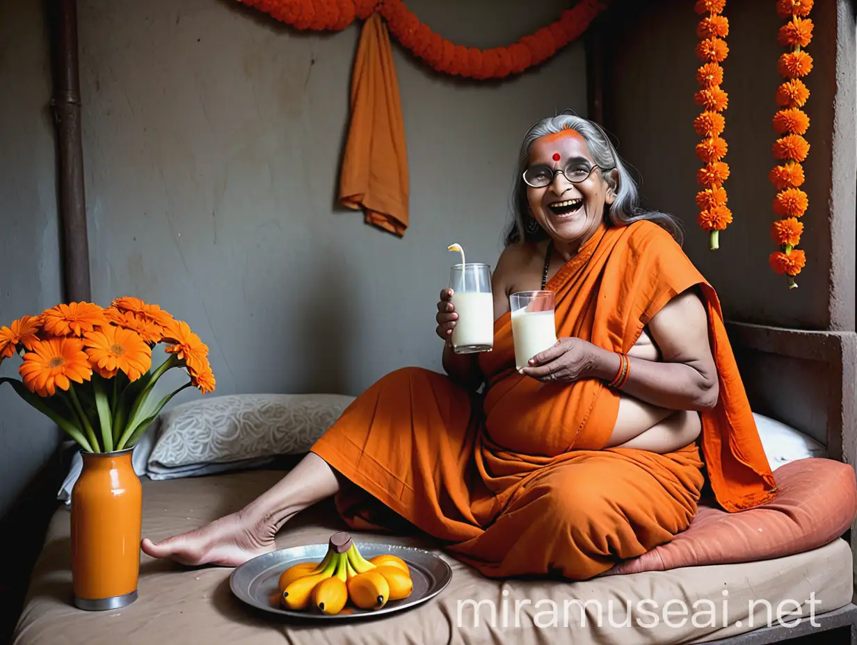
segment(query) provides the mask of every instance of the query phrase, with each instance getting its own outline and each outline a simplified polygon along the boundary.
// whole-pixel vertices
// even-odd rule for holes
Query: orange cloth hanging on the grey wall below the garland
[[[354,60],[339,199],[363,209],[367,224],[404,236],[409,189],[399,81],[387,25],[375,13],[363,24]]]

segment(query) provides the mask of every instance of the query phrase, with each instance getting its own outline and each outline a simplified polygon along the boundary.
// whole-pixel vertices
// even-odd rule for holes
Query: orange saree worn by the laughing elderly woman
[[[353,529],[405,519],[486,576],[596,576],[667,542],[697,510],[706,471],[740,511],[770,499],[773,476],[714,290],[656,224],[603,226],[546,289],[557,333],[626,352],[672,297],[698,285],[720,378],[697,444],[668,454],[604,448],[619,408],[602,381],[545,384],[515,370],[512,325],[479,356],[481,395],[445,374],[387,374],[313,446],[350,481],[337,496]],[[391,512],[392,511],[392,512]]]

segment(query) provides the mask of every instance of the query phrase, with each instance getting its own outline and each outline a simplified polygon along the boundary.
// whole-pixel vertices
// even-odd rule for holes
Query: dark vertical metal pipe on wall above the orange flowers
[[[81,85],[77,51],[77,2],[54,0],[54,98],[57,125],[59,216],[63,286],[69,302],[90,301],[87,202],[81,143]]]

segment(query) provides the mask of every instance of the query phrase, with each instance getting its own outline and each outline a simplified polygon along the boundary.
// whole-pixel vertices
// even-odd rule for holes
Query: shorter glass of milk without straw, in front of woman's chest
[[[515,369],[556,343],[553,291],[518,291],[509,296]]]

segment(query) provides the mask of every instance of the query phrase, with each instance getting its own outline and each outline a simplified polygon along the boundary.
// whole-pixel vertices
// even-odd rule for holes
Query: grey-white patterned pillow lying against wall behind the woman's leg
[[[148,475],[211,474],[308,452],[352,401],[341,394],[232,394],[177,405],[160,415]]]

